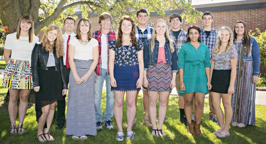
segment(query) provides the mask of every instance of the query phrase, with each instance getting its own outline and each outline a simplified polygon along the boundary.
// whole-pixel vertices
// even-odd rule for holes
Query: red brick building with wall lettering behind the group
[[[246,22],[249,29],[255,32],[255,28],[259,28],[261,31],[266,30],[266,0],[246,0],[246,1],[237,1],[237,2],[223,2],[223,3],[215,3],[215,4],[204,4],[204,5],[195,5],[198,11],[210,11],[214,15],[214,20],[212,26],[219,30],[222,26],[229,26],[232,30],[234,28],[234,24],[237,20],[243,20]],[[76,25],[78,20],[81,18],[81,11],[77,11],[75,15],[77,15],[78,19],[76,20]],[[167,21],[168,27],[170,27],[169,16],[172,13],[181,14],[180,10],[174,11],[166,11],[165,16],[157,14],[156,12],[150,13],[150,18],[148,20],[148,25],[154,27],[156,21],[158,19],[163,19]],[[92,22],[92,31],[96,31],[100,29],[100,25],[98,23],[98,16],[95,14],[90,14],[89,19]],[[186,23],[186,18],[183,19],[184,23],[181,24],[181,28],[185,31],[187,28],[194,23]],[[201,18],[198,18],[195,23],[198,26],[202,26]],[[113,23],[111,28],[114,30],[117,28],[117,25]],[[75,31],[75,29],[74,29]],[[65,33],[65,28],[62,28],[62,32]],[[43,36],[43,32],[39,32],[38,37],[41,39]],[[266,68],[261,68],[261,73],[266,73]]]

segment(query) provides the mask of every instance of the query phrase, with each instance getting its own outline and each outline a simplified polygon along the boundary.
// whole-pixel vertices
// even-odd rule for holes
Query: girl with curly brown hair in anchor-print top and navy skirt
[[[122,16],[117,29],[116,39],[109,47],[109,73],[111,90],[115,96],[114,117],[117,124],[116,139],[122,141],[123,102],[127,101],[127,139],[134,138],[132,132],[135,120],[137,91],[143,83],[143,45],[135,36],[135,22],[129,16]]]

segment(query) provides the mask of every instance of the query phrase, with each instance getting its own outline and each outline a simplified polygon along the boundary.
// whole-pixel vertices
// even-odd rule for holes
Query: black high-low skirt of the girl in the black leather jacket
[[[56,71],[55,67],[49,67],[48,70],[38,69],[39,92],[35,92],[35,111],[36,121],[41,117],[41,108],[53,102],[63,100],[62,96],[62,75],[60,69]],[[45,124],[46,126],[46,124]]]

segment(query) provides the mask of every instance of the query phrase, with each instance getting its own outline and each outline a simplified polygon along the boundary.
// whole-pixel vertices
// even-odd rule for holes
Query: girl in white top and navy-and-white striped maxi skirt
[[[92,38],[89,19],[81,18],[77,24],[77,36],[71,38],[68,47],[70,65],[67,101],[66,134],[72,139],[87,139],[97,135],[95,117],[95,76],[98,63],[98,41]]]

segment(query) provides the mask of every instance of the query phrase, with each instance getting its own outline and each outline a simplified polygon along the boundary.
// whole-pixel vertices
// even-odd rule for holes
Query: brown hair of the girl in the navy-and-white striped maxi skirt
[[[80,32],[80,24],[81,22],[83,21],[83,23],[86,25],[86,26],[89,26],[89,32],[88,32],[88,40],[90,41],[90,39],[92,39],[92,23],[90,22],[89,19],[87,18],[81,18],[80,21],[77,23],[77,30],[76,30],[76,38],[78,40],[82,40],[81,39],[81,32]]]

